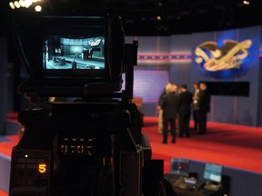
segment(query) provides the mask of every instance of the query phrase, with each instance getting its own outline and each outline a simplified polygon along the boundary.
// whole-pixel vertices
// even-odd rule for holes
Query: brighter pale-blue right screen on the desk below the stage
[[[222,165],[206,162],[204,179],[207,181],[221,182],[222,179]]]

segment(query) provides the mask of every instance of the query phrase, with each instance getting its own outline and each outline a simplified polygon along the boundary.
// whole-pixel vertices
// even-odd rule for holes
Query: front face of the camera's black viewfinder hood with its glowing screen
[[[30,76],[77,80],[106,75],[106,15],[25,15],[16,23],[17,43]]]

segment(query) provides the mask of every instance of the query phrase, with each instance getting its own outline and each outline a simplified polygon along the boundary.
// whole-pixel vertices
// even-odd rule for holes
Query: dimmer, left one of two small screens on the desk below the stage
[[[183,158],[171,158],[170,173],[187,176],[189,171],[189,160]]]

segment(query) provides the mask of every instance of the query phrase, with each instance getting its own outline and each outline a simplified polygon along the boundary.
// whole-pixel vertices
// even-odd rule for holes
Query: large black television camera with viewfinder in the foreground
[[[14,33],[29,74],[18,93],[36,106],[18,114],[9,195],[142,195],[151,147],[132,103],[138,43],[121,18],[24,15]]]

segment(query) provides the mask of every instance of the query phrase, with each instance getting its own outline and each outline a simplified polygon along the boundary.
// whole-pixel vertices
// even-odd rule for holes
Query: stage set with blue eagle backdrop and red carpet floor
[[[152,158],[164,160],[164,173],[170,171],[171,158],[187,159],[189,171],[200,177],[205,162],[213,162],[223,165],[223,174],[230,179],[230,196],[262,195],[261,29],[252,26],[219,32],[126,37],[126,43],[134,39],[139,43],[134,97],[142,98],[142,131],[149,138]],[[6,44],[1,48],[6,48]],[[0,61],[7,64],[6,59]],[[0,66],[2,78],[7,74],[3,67]],[[186,83],[189,91],[195,82],[208,83],[212,97],[207,134],[191,131],[190,138],[177,138],[176,143],[171,143],[169,136],[167,144],[162,144],[156,106],[168,81]],[[2,94],[11,93],[8,84],[1,82],[5,87]],[[0,101],[0,196],[6,196],[10,155],[18,142],[19,127],[14,119],[5,120],[7,97],[0,97]]]

